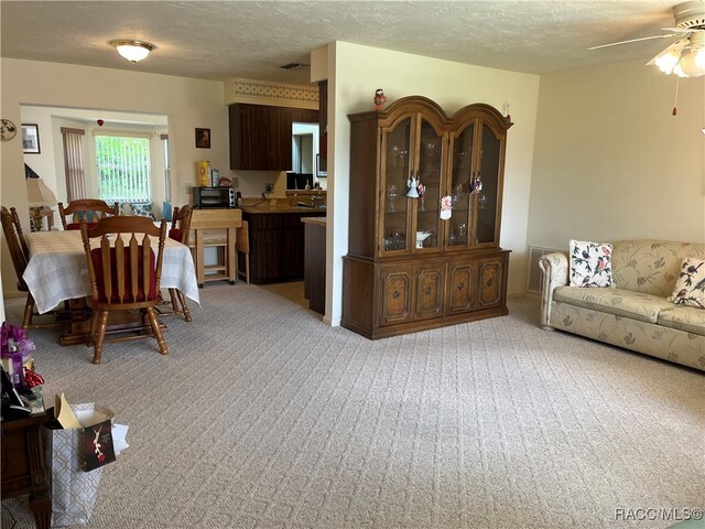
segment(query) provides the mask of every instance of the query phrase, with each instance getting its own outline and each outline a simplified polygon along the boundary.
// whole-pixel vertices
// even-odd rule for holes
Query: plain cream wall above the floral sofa
[[[705,241],[705,77],[641,62],[541,78],[528,244]]]

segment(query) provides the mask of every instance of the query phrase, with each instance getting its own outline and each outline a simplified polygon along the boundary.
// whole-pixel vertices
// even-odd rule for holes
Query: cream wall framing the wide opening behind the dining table
[[[189,202],[185,187],[196,183],[196,161],[209,160],[224,176],[228,169],[228,112],[224,84],[123,69],[96,68],[34,61],[0,60],[2,117],[21,123],[20,105],[96,108],[169,116],[174,204]],[[210,129],[210,149],[196,149],[195,128]],[[41,129],[40,129],[41,132]],[[0,145],[0,201],[26,208],[20,134]],[[28,226],[29,227],[29,226]],[[2,284],[17,279],[2,245]]]

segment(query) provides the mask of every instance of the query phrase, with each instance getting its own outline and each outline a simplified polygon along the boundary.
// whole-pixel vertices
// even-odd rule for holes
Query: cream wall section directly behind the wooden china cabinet
[[[507,139],[500,244],[512,250],[508,290],[522,292],[539,77],[345,42],[336,42],[333,50],[335,58],[333,64],[329,61],[329,72],[334,74],[328,75],[328,90],[334,99],[328,112],[328,225],[333,218],[334,233],[332,239],[328,235],[333,256],[328,262],[326,319],[337,325],[341,316],[341,258],[347,253],[350,192],[347,116],[371,110],[377,88],[384,89],[388,105],[404,96],[423,95],[436,101],[448,116],[473,102],[486,102],[499,110],[505,101],[509,102],[514,126]]]

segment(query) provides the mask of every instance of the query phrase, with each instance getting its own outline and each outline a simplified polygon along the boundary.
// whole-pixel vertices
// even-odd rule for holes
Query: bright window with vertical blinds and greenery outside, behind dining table
[[[100,198],[151,202],[150,140],[135,136],[97,136],[96,165]]]

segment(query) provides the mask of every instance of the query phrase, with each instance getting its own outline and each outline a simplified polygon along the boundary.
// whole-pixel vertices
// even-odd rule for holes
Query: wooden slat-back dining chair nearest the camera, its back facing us
[[[150,236],[156,237],[153,241]],[[108,315],[117,311],[140,310],[147,313],[152,334],[129,335],[109,342],[154,336],[162,355],[169,354],[156,321],[154,306],[161,300],[160,280],[166,222],[160,227],[147,217],[104,217],[94,228],[80,224],[80,237],[88,262],[93,319],[90,343],[93,363],[100,364],[106,342]],[[91,239],[99,238],[94,248]],[[115,241],[115,242],[111,242]]]

